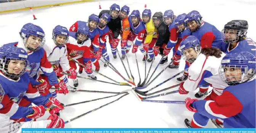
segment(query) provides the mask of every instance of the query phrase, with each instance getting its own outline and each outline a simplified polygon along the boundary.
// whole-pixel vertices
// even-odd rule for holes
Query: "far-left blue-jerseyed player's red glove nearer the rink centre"
[[[59,111],[61,111],[62,109],[64,109],[64,107],[61,105],[61,103],[54,97],[50,97],[49,98],[50,101],[48,101],[45,106],[47,106],[50,109],[50,114],[56,114]]]

